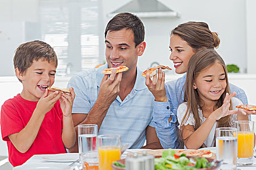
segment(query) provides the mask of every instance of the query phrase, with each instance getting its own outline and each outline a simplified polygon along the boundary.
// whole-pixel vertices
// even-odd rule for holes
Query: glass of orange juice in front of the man
[[[98,169],[113,170],[111,164],[121,156],[120,135],[99,135],[98,136]]]

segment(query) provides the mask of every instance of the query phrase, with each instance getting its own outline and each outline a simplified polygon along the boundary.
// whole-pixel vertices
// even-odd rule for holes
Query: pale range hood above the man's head
[[[129,12],[138,17],[178,17],[178,13],[163,5],[158,0],[132,0],[117,10],[109,13],[108,17],[114,17],[118,13]]]

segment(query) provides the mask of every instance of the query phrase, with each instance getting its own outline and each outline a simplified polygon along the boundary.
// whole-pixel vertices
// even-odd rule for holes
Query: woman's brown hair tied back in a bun
[[[209,30],[208,24],[205,22],[186,22],[178,25],[171,35],[177,34],[193,48],[194,52],[202,48],[214,49],[218,48],[220,39],[216,32]]]

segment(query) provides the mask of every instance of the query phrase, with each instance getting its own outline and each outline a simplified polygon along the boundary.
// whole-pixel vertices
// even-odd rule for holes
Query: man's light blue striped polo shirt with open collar
[[[107,68],[107,64],[72,76],[68,83],[68,87],[73,86],[76,93],[72,113],[90,112],[98,98],[98,89],[103,78],[101,71],[104,68]],[[128,143],[129,148],[141,148],[146,139],[147,126],[155,127],[154,96],[145,85],[145,78],[141,73],[137,68],[132,91],[123,101],[118,96],[110,105],[98,132],[98,135],[120,135],[121,143]]]

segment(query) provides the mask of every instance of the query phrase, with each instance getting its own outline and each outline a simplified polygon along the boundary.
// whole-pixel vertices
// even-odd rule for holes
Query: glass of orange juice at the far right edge
[[[237,128],[237,164],[254,163],[254,121],[236,121]]]

